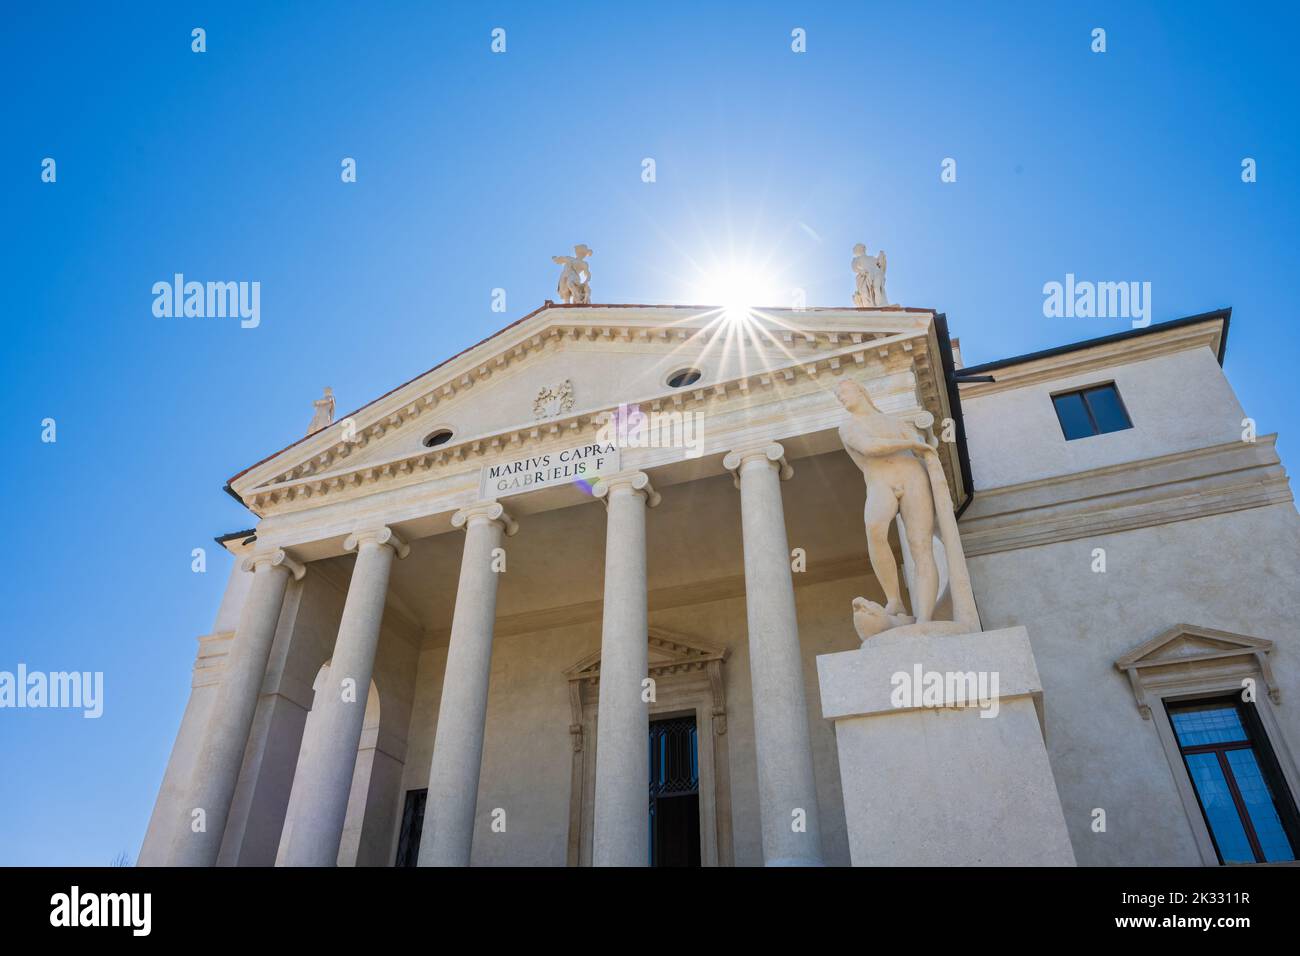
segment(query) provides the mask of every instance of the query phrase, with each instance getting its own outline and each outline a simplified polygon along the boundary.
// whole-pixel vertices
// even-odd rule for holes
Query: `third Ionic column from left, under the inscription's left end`
[[[456,511],[451,523],[465,529],[465,550],[460,558],[460,584],[438,704],[420,866],[469,865],[488,719],[491,635],[497,620],[499,575],[493,567],[493,551],[500,548],[502,535],[519,529],[495,501],[481,501]]]

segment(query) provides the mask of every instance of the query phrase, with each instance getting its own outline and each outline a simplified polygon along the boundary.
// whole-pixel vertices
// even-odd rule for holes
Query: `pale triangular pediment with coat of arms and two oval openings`
[[[890,356],[923,358],[926,382],[910,392],[933,397],[939,411],[939,363],[926,345],[932,312],[759,315],[745,332],[701,307],[547,306],[240,472],[230,486],[257,514],[313,506],[447,463],[525,454],[529,442],[586,440],[620,403],[671,410],[748,399]],[[698,384],[671,386],[670,377],[688,368],[701,369]],[[443,431],[445,444],[425,444]]]

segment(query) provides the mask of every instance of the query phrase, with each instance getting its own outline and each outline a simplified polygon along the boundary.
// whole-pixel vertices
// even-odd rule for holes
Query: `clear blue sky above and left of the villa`
[[[350,411],[552,298],[576,242],[595,302],[698,302],[736,263],[812,306],[883,246],[968,364],[1128,328],[1045,319],[1067,272],[1149,281],[1156,321],[1232,306],[1228,376],[1295,460],[1284,7],[48,7],[0,38],[0,670],[104,671],[105,713],[0,710],[0,864],[138,852],[212,537],[254,523],[225,480],[322,386]],[[260,326],[156,319],[177,272],[259,281]]]

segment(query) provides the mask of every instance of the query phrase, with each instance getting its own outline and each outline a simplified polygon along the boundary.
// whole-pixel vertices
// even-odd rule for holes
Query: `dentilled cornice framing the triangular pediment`
[[[871,368],[888,373],[893,358],[905,360],[916,376],[918,397],[914,410],[924,408],[936,419],[942,418],[946,397],[937,356],[931,356],[932,313],[872,313],[855,310],[824,312],[792,312],[800,326],[790,323],[738,341],[734,330],[718,328],[716,321],[699,313],[682,316],[664,324],[663,312],[672,310],[628,310],[612,307],[549,310],[545,324],[523,328],[502,341],[489,339],[481,346],[445,363],[406,386],[390,393],[365,410],[344,416],[285,453],[248,470],[233,481],[234,490],[248,507],[266,516],[281,510],[313,507],[322,499],[343,494],[368,494],[387,486],[436,477],[438,471],[459,470],[467,462],[485,463],[497,457],[528,454],[541,444],[554,444],[560,436],[582,441],[594,434],[615,406],[572,410],[543,421],[520,421],[516,427],[480,434],[467,434],[445,446],[395,454],[380,459],[358,460],[359,451],[381,440],[393,429],[419,428],[417,420],[433,424],[429,412],[446,399],[486,382],[497,371],[512,363],[526,362],[545,351],[549,343],[564,339],[586,342],[624,341],[660,342],[676,347],[694,341],[702,346],[720,336],[729,336],[729,346],[764,349],[764,359],[753,364],[755,371],[729,378],[710,381],[699,388],[659,390],[628,401],[645,411],[711,411],[711,406],[762,397],[815,380],[823,375],[840,375],[848,369]],[[864,313],[866,312],[866,313]],[[780,316],[785,323],[789,317]],[[621,324],[614,324],[620,319]],[[857,324],[861,328],[849,328]],[[510,330],[507,330],[510,332]],[[771,364],[774,342],[784,362]],[[489,351],[486,346],[491,345]],[[477,355],[474,355],[477,352]],[[738,363],[745,364],[745,363]],[[490,386],[489,386],[490,388]],[[898,411],[905,411],[900,408]],[[351,459],[351,460],[350,460]]]

